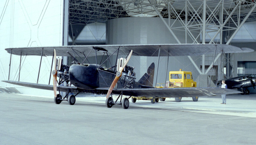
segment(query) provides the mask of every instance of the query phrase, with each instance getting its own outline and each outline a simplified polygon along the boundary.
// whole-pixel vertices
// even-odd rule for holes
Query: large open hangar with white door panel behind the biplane
[[[52,58],[43,58],[38,78],[40,59],[10,58],[4,50],[9,47],[209,43],[255,50],[255,7],[254,0],[2,0],[0,79],[42,84],[49,80]],[[159,71],[154,82],[164,82],[167,61],[168,71],[191,71],[198,86],[207,86],[209,81],[213,84],[217,79],[255,75],[254,55],[161,57],[159,69],[164,71]],[[69,63],[68,57],[63,59]],[[129,65],[137,68],[137,78],[158,61],[154,57],[131,60]],[[0,82],[0,86],[10,85]],[[52,95],[32,88],[16,89],[24,94]]]

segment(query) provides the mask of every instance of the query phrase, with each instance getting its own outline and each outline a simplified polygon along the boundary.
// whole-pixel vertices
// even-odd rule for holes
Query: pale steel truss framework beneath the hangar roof
[[[179,44],[181,41],[174,30],[184,33],[185,43],[204,44],[207,37],[210,38],[209,44],[230,44],[244,22],[256,21],[255,7],[255,0],[69,0],[69,24],[86,25],[121,17],[154,16],[162,19]],[[174,22],[171,23],[171,19]],[[176,27],[174,23],[180,26]],[[217,54],[207,70],[204,55],[202,70],[188,57],[200,74],[207,74],[220,55]]]

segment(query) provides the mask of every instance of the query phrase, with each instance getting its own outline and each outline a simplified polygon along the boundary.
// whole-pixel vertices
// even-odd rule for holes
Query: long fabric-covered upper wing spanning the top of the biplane
[[[92,48],[98,51],[91,51]],[[133,50],[134,56],[158,56],[158,49],[161,48],[161,56],[192,56],[203,54],[214,54],[215,50],[217,54],[222,51],[224,53],[243,53],[253,52],[250,48],[239,48],[226,44],[137,44],[137,45],[76,45],[76,46],[55,46],[55,47],[19,47],[19,48],[7,48],[8,53],[15,55],[37,55],[41,56],[53,56],[53,50],[56,50],[58,56],[70,56],[67,51],[74,50],[74,54],[80,57],[91,53],[92,55],[102,55],[104,52],[113,54],[118,48],[120,55],[129,54],[130,50]]]

